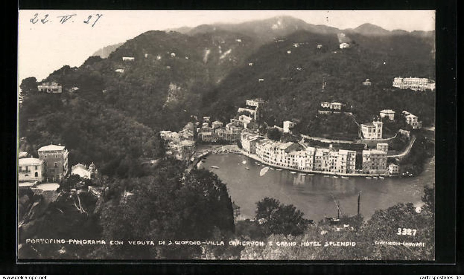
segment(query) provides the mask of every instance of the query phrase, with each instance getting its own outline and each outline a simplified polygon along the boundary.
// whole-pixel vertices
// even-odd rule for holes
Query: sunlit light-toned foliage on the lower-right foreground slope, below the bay
[[[412,203],[399,203],[386,210],[376,211],[367,222],[363,222],[362,217],[342,217],[338,225],[308,227],[299,236],[271,235],[265,241],[267,244],[272,242],[273,246],[246,247],[241,252],[241,258],[253,260],[434,260],[435,220],[432,206],[434,189],[425,187],[424,193],[425,205],[420,209]],[[275,205],[275,203],[270,204]],[[319,241],[321,246],[310,246],[308,241]],[[385,241],[396,243],[381,243]],[[277,242],[295,245],[277,246]],[[338,245],[337,242],[339,242]],[[307,247],[302,243],[306,243]]]

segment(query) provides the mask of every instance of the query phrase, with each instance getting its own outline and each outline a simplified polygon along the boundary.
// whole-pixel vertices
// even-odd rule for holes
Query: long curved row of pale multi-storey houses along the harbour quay
[[[256,155],[266,164],[327,174],[391,174],[399,173],[397,164],[387,165],[387,143],[377,149],[347,150],[310,147],[305,143],[277,142],[250,132],[241,134],[243,150]]]

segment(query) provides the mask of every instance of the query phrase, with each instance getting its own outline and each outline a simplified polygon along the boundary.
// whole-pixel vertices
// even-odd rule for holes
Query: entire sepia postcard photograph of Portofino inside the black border
[[[435,37],[435,10],[19,10],[17,260],[435,261]]]

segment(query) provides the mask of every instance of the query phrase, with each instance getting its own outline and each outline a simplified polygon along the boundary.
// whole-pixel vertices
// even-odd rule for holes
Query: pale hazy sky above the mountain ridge
[[[34,18],[35,14],[38,14]],[[45,18],[45,15],[48,17]],[[61,16],[71,15],[60,23]],[[102,15],[97,22],[97,14]],[[84,21],[92,16],[88,23]],[[80,66],[98,49],[125,42],[149,30],[197,26],[216,22],[239,23],[290,15],[316,25],[340,29],[364,23],[387,30],[435,30],[435,12],[428,11],[130,11],[130,10],[20,10],[18,19],[18,80],[46,78],[68,64]],[[41,19],[44,19],[44,23]],[[31,20],[35,23],[32,23]],[[92,25],[94,25],[92,27]]]

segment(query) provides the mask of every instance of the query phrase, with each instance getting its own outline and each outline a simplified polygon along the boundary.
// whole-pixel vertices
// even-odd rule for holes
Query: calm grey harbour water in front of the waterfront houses
[[[249,157],[236,154],[210,155],[200,168],[214,172],[227,184],[229,195],[240,206],[241,218],[253,218],[255,203],[266,196],[279,199],[283,204],[293,204],[304,212],[305,218],[318,222],[324,215],[337,215],[333,195],[340,204],[342,214],[350,216],[357,212],[358,193],[361,192],[361,214],[368,219],[376,210],[387,209],[399,202],[421,205],[423,187],[435,182],[433,159],[418,177],[386,177],[385,180],[364,177],[342,179],[324,177],[322,174],[303,176],[271,168],[260,176],[262,164],[258,166]]]

